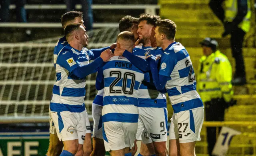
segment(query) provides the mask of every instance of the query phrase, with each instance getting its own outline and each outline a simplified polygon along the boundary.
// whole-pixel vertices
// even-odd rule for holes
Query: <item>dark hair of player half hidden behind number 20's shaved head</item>
[[[128,31],[133,24],[138,24],[138,18],[126,15],[119,21],[119,31]]]

